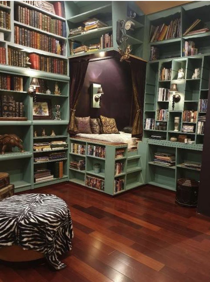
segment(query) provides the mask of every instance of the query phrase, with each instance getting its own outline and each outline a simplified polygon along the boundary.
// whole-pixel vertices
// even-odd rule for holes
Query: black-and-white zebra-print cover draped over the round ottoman
[[[57,270],[72,249],[72,220],[67,204],[55,195],[24,194],[0,201],[0,248],[19,245],[45,255]]]

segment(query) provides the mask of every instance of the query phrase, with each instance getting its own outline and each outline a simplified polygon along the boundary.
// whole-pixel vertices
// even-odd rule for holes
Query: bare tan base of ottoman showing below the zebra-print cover
[[[17,245],[0,248],[0,259],[3,261],[33,261],[43,257],[43,253],[33,250],[23,250]]]

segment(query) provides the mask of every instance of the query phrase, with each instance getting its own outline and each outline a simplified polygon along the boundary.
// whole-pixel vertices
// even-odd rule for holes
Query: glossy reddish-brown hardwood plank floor
[[[176,205],[172,191],[146,185],[112,198],[62,183],[30,193],[55,194],[68,203],[74,239],[62,258],[67,267],[1,262],[0,282],[210,280],[210,218]]]

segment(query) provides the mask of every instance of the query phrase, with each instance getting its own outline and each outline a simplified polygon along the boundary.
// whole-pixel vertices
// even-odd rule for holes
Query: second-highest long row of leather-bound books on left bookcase
[[[14,26],[14,39],[15,43],[19,45],[24,45],[58,55],[66,54],[65,42],[59,41],[52,36],[21,28],[19,26]]]

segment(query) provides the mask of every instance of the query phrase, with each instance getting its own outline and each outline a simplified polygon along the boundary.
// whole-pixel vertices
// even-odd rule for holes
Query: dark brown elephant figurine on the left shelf
[[[13,147],[18,147],[21,153],[24,152],[23,141],[15,134],[0,135],[0,154],[4,155],[5,151],[12,151]]]

